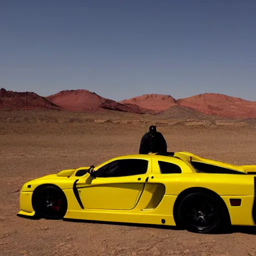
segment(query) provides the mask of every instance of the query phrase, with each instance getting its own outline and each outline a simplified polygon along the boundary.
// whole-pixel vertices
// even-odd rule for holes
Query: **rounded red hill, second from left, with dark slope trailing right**
[[[72,111],[100,111],[103,109],[146,113],[148,109],[143,109],[134,104],[121,104],[112,99],[104,98],[85,89],[62,90],[56,94],[46,97],[49,101]]]

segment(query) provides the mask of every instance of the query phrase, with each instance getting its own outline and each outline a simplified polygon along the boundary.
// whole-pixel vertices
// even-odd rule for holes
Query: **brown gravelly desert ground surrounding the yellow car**
[[[163,133],[168,151],[256,164],[253,120],[1,111],[0,255],[256,255],[256,228],[233,227],[230,233],[205,235],[174,227],[16,216],[24,182],[137,153],[151,123]]]

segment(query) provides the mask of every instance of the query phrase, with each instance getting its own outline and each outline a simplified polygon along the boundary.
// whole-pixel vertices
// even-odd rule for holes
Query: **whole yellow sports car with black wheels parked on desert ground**
[[[189,152],[135,154],[26,182],[18,215],[177,225],[208,233],[256,224],[256,165]]]

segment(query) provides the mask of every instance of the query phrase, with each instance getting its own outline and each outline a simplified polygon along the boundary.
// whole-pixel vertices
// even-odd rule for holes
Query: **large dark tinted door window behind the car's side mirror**
[[[144,174],[148,161],[144,159],[120,159],[107,163],[95,171],[96,177],[121,177]]]

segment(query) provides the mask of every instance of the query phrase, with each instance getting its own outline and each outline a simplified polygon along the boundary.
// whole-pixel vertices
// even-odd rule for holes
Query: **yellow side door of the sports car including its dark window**
[[[148,159],[117,159],[95,170],[96,178],[79,180],[76,188],[84,209],[128,210],[138,202],[150,173]]]

